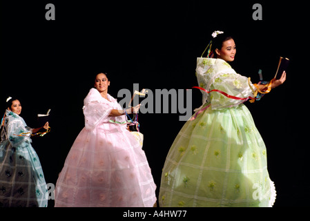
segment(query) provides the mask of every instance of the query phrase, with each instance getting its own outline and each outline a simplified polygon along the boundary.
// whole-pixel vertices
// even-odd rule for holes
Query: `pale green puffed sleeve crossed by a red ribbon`
[[[251,88],[255,87],[247,77],[237,73],[220,73],[211,84],[210,90],[222,90],[228,95],[245,98],[254,96]],[[210,99],[213,110],[237,106],[244,102],[244,100],[232,99],[218,92],[211,92]]]

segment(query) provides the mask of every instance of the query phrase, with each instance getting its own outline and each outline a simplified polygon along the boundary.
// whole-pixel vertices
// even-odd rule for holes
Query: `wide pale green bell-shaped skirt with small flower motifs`
[[[244,104],[210,107],[184,124],[166,157],[159,206],[272,206],[274,201],[266,146]]]

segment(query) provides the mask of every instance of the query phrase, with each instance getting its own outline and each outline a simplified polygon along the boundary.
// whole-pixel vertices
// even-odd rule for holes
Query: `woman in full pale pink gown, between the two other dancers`
[[[59,174],[55,206],[153,206],[155,183],[146,155],[126,129],[126,112],[108,94],[104,73],[84,99],[85,127]],[[137,111],[139,106],[127,111]]]

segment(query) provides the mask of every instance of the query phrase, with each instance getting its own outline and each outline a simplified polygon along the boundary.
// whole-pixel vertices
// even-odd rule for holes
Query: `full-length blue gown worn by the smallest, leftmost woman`
[[[39,157],[30,144],[31,132],[22,117],[6,111],[0,143],[0,207],[48,205]]]

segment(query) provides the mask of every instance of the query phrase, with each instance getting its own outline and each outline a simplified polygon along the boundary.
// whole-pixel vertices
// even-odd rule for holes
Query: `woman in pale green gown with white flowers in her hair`
[[[217,58],[197,58],[196,68],[200,88],[217,91],[202,91],[202,106],[175,138],[162,171],[159,206],[272,206],[275,202],[266,146],[242,104],[255,97],[255,90],[267,88],[255,87],[235,73],[227,63],[235,58],[235,42],[217,34],[213,33]],[[284,72],[271,81],[271,88],[285,79]]]

